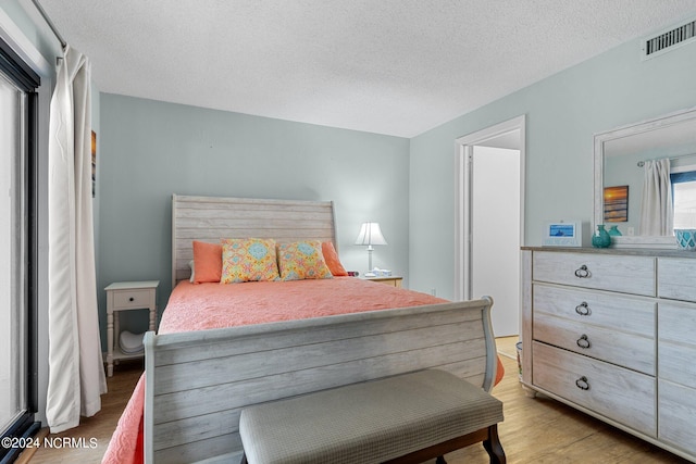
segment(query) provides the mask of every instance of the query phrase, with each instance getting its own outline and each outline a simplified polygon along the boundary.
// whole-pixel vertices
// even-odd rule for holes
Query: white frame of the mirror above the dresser
[[[610,140],[630,137],[637,134],[656,130],[668,127],[684,121],[696,120],[696,106],[681,110],[674,113],[666,114],[651,120],[639,123],[630,124],[618,127],[605,133],[595,134],[595,201],[594,201],[594,222],[592,230],[595,230],[597,224],[604,224],[604,166],[605,166],[605,143]],[[676,248],[676,239],[674,237],[663,236],[621,236],[612,237],[613,248]]]

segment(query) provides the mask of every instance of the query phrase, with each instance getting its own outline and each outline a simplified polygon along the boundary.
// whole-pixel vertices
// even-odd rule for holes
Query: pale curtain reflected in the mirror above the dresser
[[[669,236],[673,229],[670,160],[651,160],[644,164],[641,235]]]

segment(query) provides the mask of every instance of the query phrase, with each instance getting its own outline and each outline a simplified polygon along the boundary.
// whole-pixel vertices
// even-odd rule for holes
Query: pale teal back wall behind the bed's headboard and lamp
[[[408,277],[408,139],[109,93],[100,126],[102,330],[112,281],[159,279],[164,308],[172,193],[333,200],[346,267],[366,271],[365,249],[352,243],[362,222],[376,221],[389,244],[373,264]]]

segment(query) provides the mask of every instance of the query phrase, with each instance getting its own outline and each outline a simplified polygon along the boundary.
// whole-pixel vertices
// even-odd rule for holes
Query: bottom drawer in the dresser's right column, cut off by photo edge
[[[658,438],[696,453],[696,389],[660,380]]]

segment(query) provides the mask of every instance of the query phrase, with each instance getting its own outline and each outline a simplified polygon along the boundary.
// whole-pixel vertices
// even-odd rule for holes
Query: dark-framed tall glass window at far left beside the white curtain
[[[0,434],[32,434],[37,405],[38,76],[0,40]],[[20,450],[0,447],[0,461]]]

